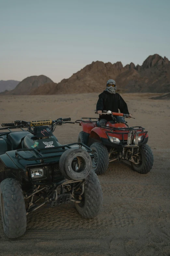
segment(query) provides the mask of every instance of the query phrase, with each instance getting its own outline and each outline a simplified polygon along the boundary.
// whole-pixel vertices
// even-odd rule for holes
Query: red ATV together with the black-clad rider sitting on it
[[[84,117],[76,121],[83,128],[78,143],[92,149],[92,168],[96,174],[105,173],[109,162],[116,160],[129,161],[134,171],[146,174],[153,166],[148,131],[141,126],[127,125],[124,118],[132,118],[132,114],[116,89],[116,82],[108,80],[96,106],[99,118]]]

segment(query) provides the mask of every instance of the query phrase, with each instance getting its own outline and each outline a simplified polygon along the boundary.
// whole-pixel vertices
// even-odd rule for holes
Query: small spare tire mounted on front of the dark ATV
[[[61,173],[67,179],[85,179],[92,169],[92,159],[87,151],[82,148],[65,150],[59,162]]]

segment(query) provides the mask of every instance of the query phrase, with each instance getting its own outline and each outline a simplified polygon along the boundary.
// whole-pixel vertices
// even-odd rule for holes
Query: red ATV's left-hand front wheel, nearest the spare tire
[[[92,169],[96,174],[103,174],[106,172],[109,164],[109,154],[107,148],[100,142],[95,142],[91,146],[92,154]]]

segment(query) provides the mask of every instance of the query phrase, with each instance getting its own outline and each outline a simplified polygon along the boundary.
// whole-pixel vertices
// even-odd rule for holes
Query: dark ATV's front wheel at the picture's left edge
[[[26,210],[20,183],[4,179],[0,184],[0,206],[4,232],[8,238],[17,238],[26,230]]]

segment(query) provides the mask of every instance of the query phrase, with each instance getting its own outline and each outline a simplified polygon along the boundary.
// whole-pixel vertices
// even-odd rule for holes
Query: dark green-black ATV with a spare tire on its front
[[[73,201],[84,218],[100,212],[103,197],[92,170],[92,150],[82,143],[61,145],[52,133],[70,120],[2,124],[0,130],[6,131],[0,133],[0,207],[7,237],[23,235],[26,215],[44,204]]]

